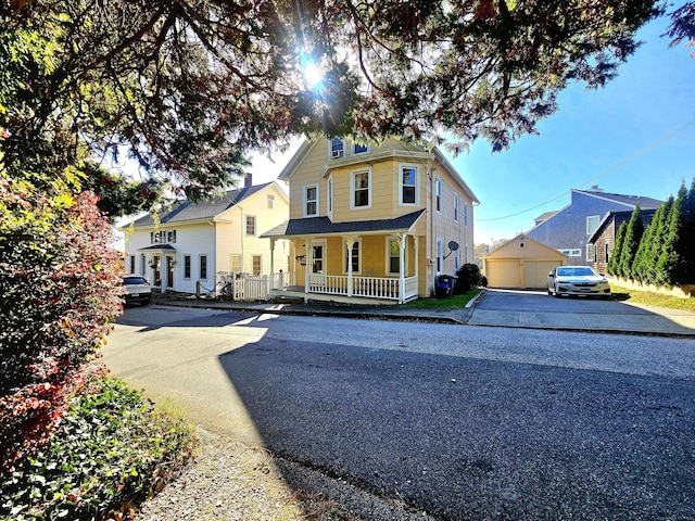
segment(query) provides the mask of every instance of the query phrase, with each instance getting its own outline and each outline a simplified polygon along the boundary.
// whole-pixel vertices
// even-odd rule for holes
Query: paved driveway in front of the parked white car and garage
[[[695,334],[695,314],[541,291],[489,289],[469,325],[653,334]]]

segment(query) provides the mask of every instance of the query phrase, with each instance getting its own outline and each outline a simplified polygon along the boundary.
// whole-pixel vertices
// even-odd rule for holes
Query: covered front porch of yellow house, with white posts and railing
[[[270,230],[291,242],[292,287],[273,284],[271,296],[333,302],[402,304],[418,297],[420,253],[416,223],[421,212],[397,219],[333,224],[328,218],[290,220]]]

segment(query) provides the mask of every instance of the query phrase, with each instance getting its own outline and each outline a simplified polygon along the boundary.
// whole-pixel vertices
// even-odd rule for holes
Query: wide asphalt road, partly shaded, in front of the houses
[[[104,359],[437,519],[695,519],[692,340],[151,306]]]

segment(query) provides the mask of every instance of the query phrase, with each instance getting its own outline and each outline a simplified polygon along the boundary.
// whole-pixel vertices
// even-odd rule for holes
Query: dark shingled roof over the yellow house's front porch
[[[408,231],[417,219],[425,213],[418,209],[393,219],[350,220],[333,223],[328,217],[309,217],[306,219],[290,219],[280,226],[266,231],[261,237],[280,238],[292,236],[334,236],[344,233],[383,233]]]

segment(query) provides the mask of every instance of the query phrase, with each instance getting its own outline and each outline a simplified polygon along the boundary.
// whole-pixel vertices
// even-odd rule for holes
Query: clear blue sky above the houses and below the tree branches
[[[473,214],[476,243],[530,229],[534,217],[567,205],[573,188],[598,185],[607,192],[665,200],[683,180],[690,187],[694,49],[669,49],[660,36],[667,25],[662,17],[639,31],[644,45],[606,87],[587,91],[572,85],[563,91],[559,111],[541,122],[540,136],[526,136],[494,154],[480,141],[448,157],[481,203]],[[254,183],[277,177],[294,150],[274,156],[275,164],[255,160]]]

